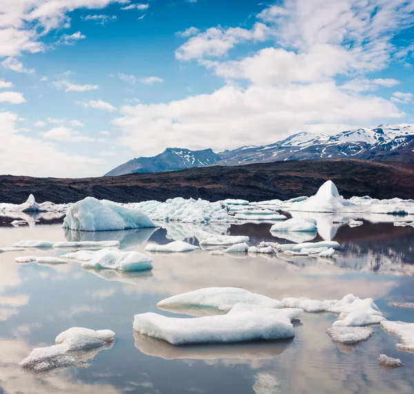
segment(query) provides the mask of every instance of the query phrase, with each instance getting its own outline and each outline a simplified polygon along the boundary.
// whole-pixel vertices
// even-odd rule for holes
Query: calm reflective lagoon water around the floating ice
[[[392,221],[366,221],[349,228],[331,226],[332,219],[319,217],[320,233],[312,237],[315,241],[333,237],[342,244],[334,260],[211,256],[199,250],[153,255],[154,268],[149,273],[121,275],[108,270],[91,273],[77,263],[14,262],[22,255],[57,256],[64,250],[1,254],[0,393],[414,393],[414,354],[397,351],[397,337],[377,326],[368,342],[337,346],[325,333],[336,319],[327,313],[305,313],[295,324],[295,338],[278,342],[171,346],[132,330],[137,313],[172,315],[157,310],[160,299],[208,286],[240,286],[277,299],[332,299],[354,293],[373,297],[388,319],[414,322],[414,310],[392,306],[393,302],[414,302],[414,228],[394,227]],[[10,221],[0,217],[0,247],[22,239],[118,239],[121,248],[142,251],[148,240],[197,243],[199,228],[228,227],[175,224],[156,230],[73,233],[61,228],[59,217],[18,228],[10,226]],[[270,224],[244,224],[231,226],[230,233],[249,235],[252,245],[262,240],[288,242],[270,235],[269,228]],[[109,328],[116,333],[115,344],[89,360],[89,368],[40,375],[19,368],[17,363],[33,347],[54,344],[55,337],[72,326]],[[381,369],[377,365],[380,353],[402,359],[405,366]]]

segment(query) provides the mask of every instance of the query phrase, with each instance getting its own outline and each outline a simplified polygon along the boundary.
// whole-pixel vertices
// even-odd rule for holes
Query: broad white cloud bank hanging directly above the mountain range
[[[350,95],[327,81],[246,89],[224,86],[210,95],[168,104],[124,106],[121,115],[114,120],[123,132],[119,143],[152,155],[168,146],[221,150],[270,144],[308,125],[329,124],[332,129],[333,124],[371,124],[404,113],[391,101]]]

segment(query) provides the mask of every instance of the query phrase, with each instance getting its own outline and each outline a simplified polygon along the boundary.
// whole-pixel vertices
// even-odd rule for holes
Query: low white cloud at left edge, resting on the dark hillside
[[[49,141],[22,135],[17,119],[14,112],[0,112],[0,173],[36,177],[101,175],[103,159],[68,155]]]

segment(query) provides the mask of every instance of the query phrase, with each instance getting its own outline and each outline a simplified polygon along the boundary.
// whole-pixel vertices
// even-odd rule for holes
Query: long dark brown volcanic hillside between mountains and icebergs
[[[0,201],[21,203],[33,193],[37,201],[64,203],[87,196],[119,202],[172,197],[250,201],[313,195],[332,179],[344,197],[380,199],[414,197],[414,165],[355,159],[276,161],[247,166],[190,168],[170,173],[137,173],[83,179],[0,176]]]

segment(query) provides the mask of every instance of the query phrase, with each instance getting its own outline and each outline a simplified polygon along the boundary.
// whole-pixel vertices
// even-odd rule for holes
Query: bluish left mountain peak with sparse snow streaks
[[[211,149],[189,150],[167,148],[154,157],[138,157],[110,170],[105,176],[131,173],[161,173],[163,171],[184,170],[190,167],[202,167],[215,164],[221,156]]]

